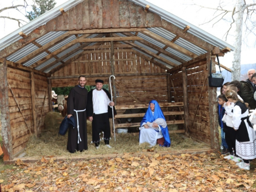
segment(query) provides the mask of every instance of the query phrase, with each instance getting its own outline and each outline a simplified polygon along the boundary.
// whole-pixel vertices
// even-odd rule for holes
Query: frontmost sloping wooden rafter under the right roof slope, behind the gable
[[[177,50],[177,51],[179,51],[179,52],[181,52],[181,53],[183,53],[183,54],[185,54],[185,55],[187,55],[187,56],[189,56],[191,58],[198,57],[198,55],[196,55],[195,53],[193,53],[191,51],[188,51],[185,48],[174,44],[174,42],[170,42],[166,38],[163,38],[163,37],[157,35],[156,33],[153,33],[151,31],[143,31],[141,33],[143,33],[143,34],[145,34],[147,36],[150,36],[151,38],[154,38],[155,40],[158,40],[158,41],[162,42],[163,44],[169,46],[170,48],[173,48],[173,49],[175,49],[175,50]]]

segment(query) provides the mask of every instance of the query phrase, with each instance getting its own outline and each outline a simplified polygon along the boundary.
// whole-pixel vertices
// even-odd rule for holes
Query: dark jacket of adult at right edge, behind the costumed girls
[[[256,107],[256,101],[253,95],[253,89],[249,82],[240,81],[241,82],[241,89],[238,91],[238,95],[242,97],[244,102],[249,104],[250,110],[254,110]]]

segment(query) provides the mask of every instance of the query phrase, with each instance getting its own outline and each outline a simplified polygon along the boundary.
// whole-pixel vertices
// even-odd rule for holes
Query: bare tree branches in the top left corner
[[[7,11],[7,10],[14,10],[14,11],[18,11],[18,12],[24,14],[21,10],[27,8],[28,4],[27,4],[26,0],[22,1],[23,5],[14,5],[14,3],[15,3],[15,1],[12,2],[11,6],[4,7],[2,9],[0,9],[0,14],[3,13],[4,11]],[[18,23],[19,27],[21,27],[23,25],[23,23],[27,23],[25,20],[20,19],[20,18],[16,18],[14,15],[15,14],[13,14],[13,16],[0,15],[0,18],[16,20],[16,22]]]

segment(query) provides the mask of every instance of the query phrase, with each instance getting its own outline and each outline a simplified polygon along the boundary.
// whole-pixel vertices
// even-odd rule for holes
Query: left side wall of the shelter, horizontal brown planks
[[[30,73],[20,71],[18,69],[7,68],[7,79],[9,85],[14,93],[16,101],[22,110],[22,114],[28,124],[28,127],[32,133],[33,130],[33,114],[32,114],[32,99],[31,99],[31,81]],[[42,106],[42,91],[47,88],[47,78],[39,75],[35,75],[35,97],[36,97],[36,114],[37,122],[38,117],[41,114]],[[12,146],[13,146],[13,155],[22,151],[29,140],[30,132],[26,126],[22,115],[20,114],[17,104],[14,100],[14,97],[8,90],[8,100],[9,100],[9,110],[10,110],[10,124],[12,131]],[[46,112],[49,112],[48,100],[45,103],[45,109],[43,118],[46,115]],[[40,130],[43,129],[44,121],[41,123]]]

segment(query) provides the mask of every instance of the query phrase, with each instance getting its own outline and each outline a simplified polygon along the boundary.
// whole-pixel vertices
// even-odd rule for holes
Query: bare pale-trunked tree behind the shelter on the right
[[[256,37],[256,0],[250,1],[251,3],[246,4],[246,0],[236,0],[236,4],[233,5],[232,9],[226,9],[226,2],[224,0],[220,0],[219,6],[216,8],[204,7],[201,8],[214,9],[216,10],[214,17],[212,17],[206,23],[216,23],[220,22],[220,20],[231,20],[229,29],[225,33],[226,39],[228,34],[230,33],[230,29],[234,28],[234,44],[233,46],[236,48],[233,52],[233,60],[232,60],[232,80],[240,80],[241,73],[241,47],[242,47],[242,39],[245,38],[246,33],[251,33]],[[196,4],[194,4],[196,5]],[[206,24],[205,23],[205,24]],[[246,30],[243,34],[243,26],[245,26]]]

